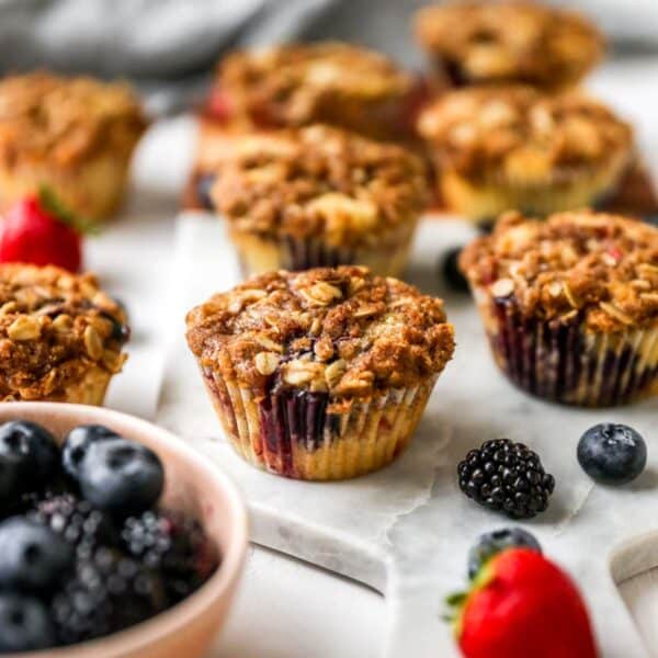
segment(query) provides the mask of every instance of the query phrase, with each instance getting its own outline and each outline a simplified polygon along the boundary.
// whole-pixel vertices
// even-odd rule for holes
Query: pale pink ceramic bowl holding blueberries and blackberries
[[[100,423],[148,445],[164,464],[164,507],[196,518],[222,555],[217,571],[191,597],[126,631],[21,658],[195,658],[222,628],[247,551],[247,512],[230,480],[164,430],[125,413],[59,402],[3,402],[0,422],[38,422],[61,440],[79,424]]]

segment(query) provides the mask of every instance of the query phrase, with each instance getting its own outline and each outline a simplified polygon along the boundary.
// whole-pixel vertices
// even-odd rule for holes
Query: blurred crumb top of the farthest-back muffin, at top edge
[[[415,29],[422,46],[467,83],[561,87],[580,79],[604,49],[601,33],[582,16],[514,0],[427,7]]]

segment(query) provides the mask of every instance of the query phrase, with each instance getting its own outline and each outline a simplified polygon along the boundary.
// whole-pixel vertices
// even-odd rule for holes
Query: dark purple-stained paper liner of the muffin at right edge
[[[513,298],[489,293],[480,313],[496,362],[520,388],[566,405],[610,407],[658,393],[658,328],[617,333],[523,317]]]

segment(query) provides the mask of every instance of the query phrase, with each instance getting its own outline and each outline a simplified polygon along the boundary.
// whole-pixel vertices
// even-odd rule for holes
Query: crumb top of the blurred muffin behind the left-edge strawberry
[[[131,89],[46,72],[0,81],[0,163],[70,167],[131,151],[146,121]]]

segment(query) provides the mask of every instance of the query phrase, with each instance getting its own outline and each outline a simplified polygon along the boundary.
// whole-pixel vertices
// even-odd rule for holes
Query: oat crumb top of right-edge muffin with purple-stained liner
[[[527,316],[619,332],[658,325],[658,229],[589,211],[547,220],[504,215],[460,265],[470,284],[513,296]]]

